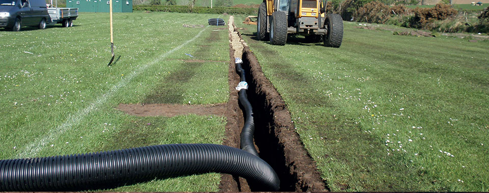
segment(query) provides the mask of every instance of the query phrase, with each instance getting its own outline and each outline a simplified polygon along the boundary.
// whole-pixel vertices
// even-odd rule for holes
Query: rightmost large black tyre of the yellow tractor
[[[339,48],[343,41],[343,19],[338,14],[328,14],[325,22],[328,34],[324,38],[324,45]]]

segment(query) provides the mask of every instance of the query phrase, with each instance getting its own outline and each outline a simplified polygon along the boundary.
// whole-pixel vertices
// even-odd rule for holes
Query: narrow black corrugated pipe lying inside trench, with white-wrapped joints
[[[246,90],[248,89],[248,83],[246,82],[246,78],[244,77],[244,70],[241,67],[243,61],[240,58],[235,59],[236,63],[236,72],[238,72],[241,77],[241,82],[239,82],[236,90],[238,90],[239,94],[239,103],[244,107],[244,113],[246,114],[246,118],[244,120],[244,125],[240,134],[240,145],[241,149],[251,153],[253,155],[258,156],[258,152],[256,151],[255,145],[253,143],[253,135],[255,133],[255,122],[253,121],[253,108],[251,107],[250,101],[248,101],[248,95],[246,94]]]

